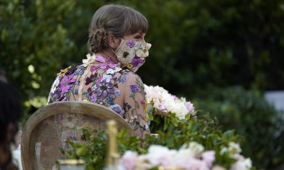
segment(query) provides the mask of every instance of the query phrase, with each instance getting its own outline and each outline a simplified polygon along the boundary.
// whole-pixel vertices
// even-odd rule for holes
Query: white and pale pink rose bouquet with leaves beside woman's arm
[[[159,86],[145,85],[148,100],[148,115],[151,133],[165,131],[169,126],[178,127],[180,121],[196,118],[196,111],[190,101],[178,98]]]

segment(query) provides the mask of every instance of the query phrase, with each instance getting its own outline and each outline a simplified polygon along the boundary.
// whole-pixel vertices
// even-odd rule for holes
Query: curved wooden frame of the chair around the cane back
[[[92,111],[94,110],[94,111]],[[48,104],[33,113],[25,124],[21,137],[21,159],[23,170],[37,170],[35,159],[35,136],[31,136],[33,130],[44,119],[60,113],[81,113],[104,119],[117,121],[117,128],[128,130],[128,136],[135,133],[129,124],[113,110],[91,102],[64,101]]]

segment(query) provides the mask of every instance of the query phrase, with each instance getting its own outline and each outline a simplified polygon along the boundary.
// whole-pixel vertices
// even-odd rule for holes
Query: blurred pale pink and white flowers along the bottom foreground
[[[221,150],[231,155],[236,161],[230,165],[230,170],[253,169],[251,160],[239,154],[241,151],[237,143],[230,142],[229,147]],[[204,151],[204,146],[192,141],[184,144],[179,150],[166,146],[151,145],[147,154],[138,155],[135,151],[126,151],[120,159],[119,166],[124,170],[147,170],[179,168],[185,170],[227,170],[215,163],[215,151]],[[215,164],[213,166],[213,164]]]

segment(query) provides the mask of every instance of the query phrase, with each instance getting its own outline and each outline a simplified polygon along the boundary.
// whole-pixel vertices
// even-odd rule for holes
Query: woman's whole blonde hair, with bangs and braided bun
[[[95,12],[89,27],[89,51],[107,49],[109,34],[123,38],[139,31],[146,33],[147,29],[148,21],[140,12],[123,5],[104,5]]]

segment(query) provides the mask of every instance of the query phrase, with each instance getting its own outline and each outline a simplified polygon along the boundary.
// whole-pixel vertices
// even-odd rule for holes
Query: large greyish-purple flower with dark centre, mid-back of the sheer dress
[[[97,86],[94,93],[97,94],[98,99],[105,98],[114,93],[112,83],[107,83],[106,80],[103,80],[102,82],[98,81],[96,84]]]

